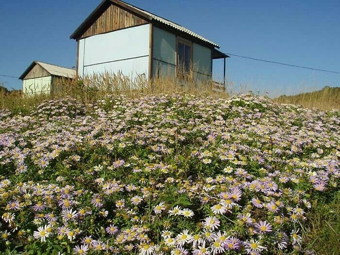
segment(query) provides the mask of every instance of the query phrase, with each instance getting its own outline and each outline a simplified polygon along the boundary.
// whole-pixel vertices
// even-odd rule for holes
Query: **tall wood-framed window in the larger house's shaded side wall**
[[[192,64],[192,44],[187,41],[177,41],[177,76],[190,75]]]

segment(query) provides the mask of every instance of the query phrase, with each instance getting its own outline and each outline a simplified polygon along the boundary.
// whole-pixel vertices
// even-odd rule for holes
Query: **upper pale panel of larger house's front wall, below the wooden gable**
[[[146,24],[85,38],[84,66],[149,55],[149,30]]]

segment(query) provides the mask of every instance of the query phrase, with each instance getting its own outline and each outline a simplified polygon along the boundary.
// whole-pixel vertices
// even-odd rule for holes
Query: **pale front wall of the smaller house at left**
[[[23,80],[22,91],[29,96],[40,93],[48,94],[51,91],[51,81],[51,76]]]

